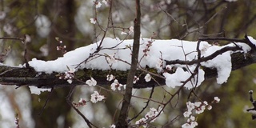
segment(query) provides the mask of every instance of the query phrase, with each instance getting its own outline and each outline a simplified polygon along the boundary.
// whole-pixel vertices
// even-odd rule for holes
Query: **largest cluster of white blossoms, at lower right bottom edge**
[[[212,103],[218,103],[220,99],[218,97],[214,97],[214,101]],[[198,126],[198,122],[196,122],[194,115],[192,115],[193,111],[194,114],[202,114],[204,110],[208,109],[211,110],[212,106],[208,104],[208,102],[186,102],[187,110],[183,113],[183,116],[187,119],[187,122],[182,125],[182,128],[194,128]]]

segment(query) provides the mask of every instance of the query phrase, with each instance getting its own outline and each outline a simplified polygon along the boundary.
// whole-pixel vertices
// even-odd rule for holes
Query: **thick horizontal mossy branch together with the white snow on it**
[[[249,37],[250,43],[255,40]],[[219,40],[219,39],[218,39]],[[241,40],[242,41],[242,40]],[[102,50],[91,56],[97,50],[97,43],[80,47],[64,54],[53,61],[32,59],[31,67],[0,66],[0,83],[2,85],[38,86],[52,88],[70,85],[86,85],[93,77],[99,86],[110,86],[107,80],[112,74],[118,82],[125,84],[130,67],[130,57],[133,40],[104,38]],[[200,60],[197,59],[198,42],[182,40],[154,40],[141,38],[138,55],[139,68],[134,82],[134,88],[152,86],[179,86],[190,76],[190,70],[200,63],[198,70],[198,85],[204,79],[217,77],[217,82],[226,82],[231,70],[242,68],[256,62],[255,50],[251,50],[246,42],[233,42],[226,46],[210,45],[201,42]],[[89,58],[90,57],[90,58]],[[87,62],[83,62],[87,59]],[[83,62],[82,64],[79,64]],[[154,80],[145,80],[146,74],[151,74]],[[73,76],[74,75],[74,76]],[[182,76],[182,77],[181,77]],[[66,78],[65,78],[66,77]],[[68,81],[70,80],[70,81]],[[194,85],[186,85],[192,88]]]

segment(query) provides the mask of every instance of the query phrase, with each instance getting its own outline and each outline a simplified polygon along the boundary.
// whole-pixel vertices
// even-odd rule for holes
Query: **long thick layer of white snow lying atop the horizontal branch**
[[[254,38],[249,38],[251,42],[256,44],[256,40],[254,40]],[[102,49],[98,53],[94,54],[100,44],[102,44]],[[48,74],[52,72],[63,73],[68,71],[67,66],[69,68],[75,68],[76,70],[78,70],[78,68],[97,70],[110,70],[110,68],[112,68],[115,70],[129,70],[132,44],[133,40],[104,38],[102,43],[99,41],[89,46],[80,47],[76,50],[67,52],[63,57],[56,60],[42,61],[33,58],[29,64],[38,72],[46,72]],[[198,58],[196,50],[198,42],[182,41],[178,39],[152,40],[149,38],[141,38],[140,44],[138,57],[139,66],[145,67],[147,65],[158,69],[159,72],[165,67],[165,60],[171,61],[178,59],[191,61]],[[250,46],[247,46],[246,44],[238,43],[238,45],[242,46],[243,49],[240,52],[247,52],[250,50]],[[234,46],[234,44],[226,46]],[[202,56],[206,57],[223,47],[225,46],[212,46],[208,42],[201,42],[199,50],[202,51]],[[90,54],[93,54],[93,56],[90,57]],[[227,78],[230,76],[230,54],[232,54],[232,52],[228,51],[224,54],[218,55],[216,58],[208,62],[201,63],[202,66],[216,68],[218,70],[218,84],[226,82]],[[84,62],[86,59],[87,61]],[[170,66],[176,66],[176,72],[174,74],[164,73],[163,76],[166,77],[166,86],[174,87],[181,86],[182,81],[185,81],[191,75],[188,70],[193,72],[196,65],[186,66],[175,64]],[[186,68],[186,70],[183,70],[182,68]],[[192,81],[186,84],[186,88],[190,89],[193,86],[199,86],[203,80],[204,71],[199,68],[198,74],[192,78]],[[195,85],[196,83],[198,85]]]

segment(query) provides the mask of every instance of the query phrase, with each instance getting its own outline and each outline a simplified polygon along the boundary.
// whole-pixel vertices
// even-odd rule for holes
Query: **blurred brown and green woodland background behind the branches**
[[[56,50],[59,38],[66,46],[66,50],[74,50],[79,46],[86,46],[97,42],[104,36],[108,15],[112,21],[111,29],[108,28],[106,36],[111,38],[132,38],[131,35],[121,34],[133,26],[135,17],[134,2],[112,0],[106,1],[99,9],[95,8],[95,0],[2,0],[0,2],[0,37],[22,38],[25,34],[30,36],[27,44],[27,59],[38,58],[42,60],[55,59],[62,56]],[[237,0],[142,0],[142,37],[157,39],[178,38],[195,41],[198,37],[229,37],[242,38],[246,33],[256,38],[256,1]],[[110,11],[111,7],[111,11]],[[110,12],[109,12],[110,11]],[[95,25],[90,18],[97,18]],[[126,37],[127,36],[127,37]],[[18,40],[0,40],[2,54],[8,54],[3,63],[18,65],[24,63],[22,59],[25,46]],[[226,44],[228,42],[212,42]],[[10,51],[9,51],[10,50]],[[214,96],[221,98],[221,102],[198,115],[198,127],[253,127],[256,122],[246,114],[246,105],[250,106],[248,91],[254,90],[256,67],[247,66],[232,72],[226,84],[218,85],[215,80],[208,80],[197,88],[196,94],[202,101],[211,101]],[[49,97],[49,93],[39,96],[30,94],[29,90],[9,89],[0,87],[1,98],[9,101],[0,109],[9,107],[10,120],[6,121],[6,114],[0,113],[0,127],[6,123],[14,126],[14,114],[18,114],[21,127],[86,127],[70,106],[66,103],[66,96],[70,88],[56,89],[50,95],[46,109],[41,110]],[[8,88],[8,89],[7,89]],[[158,87],[154,90],[154,100],[163,99],[162,95],[174,89]],[[74,100],[86,97],[92,89],[84,86],[77,87]],[[138,95],[147,96],[150,89],[134,90]],[[19,95],[29,97],[20,100]],[[104,93],[104,92],[103,92]],[[182,116],[186,110],[186,101],[190,90],[182,90],[182,94],[171,106],[164,110],[164,118],[154,122],[156,126],[180,127],[184,122]],[[104,103],[81,108],[82,112],[90,118],[91,122],[100,122],[99,126],[110,126],[117,119],[122,95],[105,94]],[[191,96],[193,101],[196,96]],[[141,103],[139,103],[141,102]],[[143,107],[143,100],[133,99],[130,114],[136,114]],[[22,104],[26,104],[24,106]],[[150,106],[155,106],[150,103]],[[181,109],[182,108],[182,109]],[[27,112],[30,111],[30,112]],[[24,113],[26,112],[26,113]],[[30,116],[26,115],[30,114]],[[40,114],[40,115],[38,115]],[[178,116],[177,116],[178,115]],[[26,118],[30,117],[30,118]],[[142,118],[142,117],[139,117]],[[30,121],[29,121],[30,120]],[[161,120],[161,121],[159,121]],[[113,122],[110,122],[113,121]]]

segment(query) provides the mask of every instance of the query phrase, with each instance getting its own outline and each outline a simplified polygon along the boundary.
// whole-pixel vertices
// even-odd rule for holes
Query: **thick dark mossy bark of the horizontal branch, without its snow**
[[[231,54],[232,70],[237,70],[245,66],[249,66],[256,62],[256,52],[250,52],[244,54],[242,52]],[[202,67],[205,71],[205,78],[214,78],[217,76],[217,70]],[[158,74],[156,70],[149,69],[151,72]],[[25,67],[13,67],[13,66],[0,66],[0,84],[2,85],[17,85],[17,86],[38,86],[38,88],[56,88],[72,85],[84,85],[86,80],[90,79],[90,76],[94,76],[99,86],[109,86],[111,82],[106,81],[106,75],[113,74],[118,79],[118,82],[125,84],[127,71],[120,70],[91,70],[84,69],[78,70],[75,73],[75,79],[72,84],[66,82],[66,80],[59,79],[58,73],[45,74],[37,73],[33,69]],[[140,75],[142,74],[142,75]],[[144,74],[144,75],[143,75]],[[136,71],[136,76],[140,76],[139,81],[134,84],[134,88],[146,88],[152,86],[165,85],[163,78],[154,77],[156,82],[145,82],[144,77],[146,73],[142,70]]]

